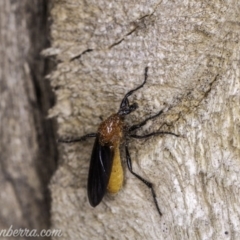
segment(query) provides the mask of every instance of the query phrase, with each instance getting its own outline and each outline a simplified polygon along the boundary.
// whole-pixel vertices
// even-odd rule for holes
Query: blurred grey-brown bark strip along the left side
[[[50,64],[40,56],[49,46],[48,3],[0,1],[0,16],[0,229],[48,229],[57,159]]]

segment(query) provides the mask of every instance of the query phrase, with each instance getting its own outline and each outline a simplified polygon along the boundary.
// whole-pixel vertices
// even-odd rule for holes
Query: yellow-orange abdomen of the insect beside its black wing
[[[123,168],[118,145],[117,147],[114,147],[113,166],[107,190],[110,193],[117,193],[122,188],[122,185],[123,185]]]

